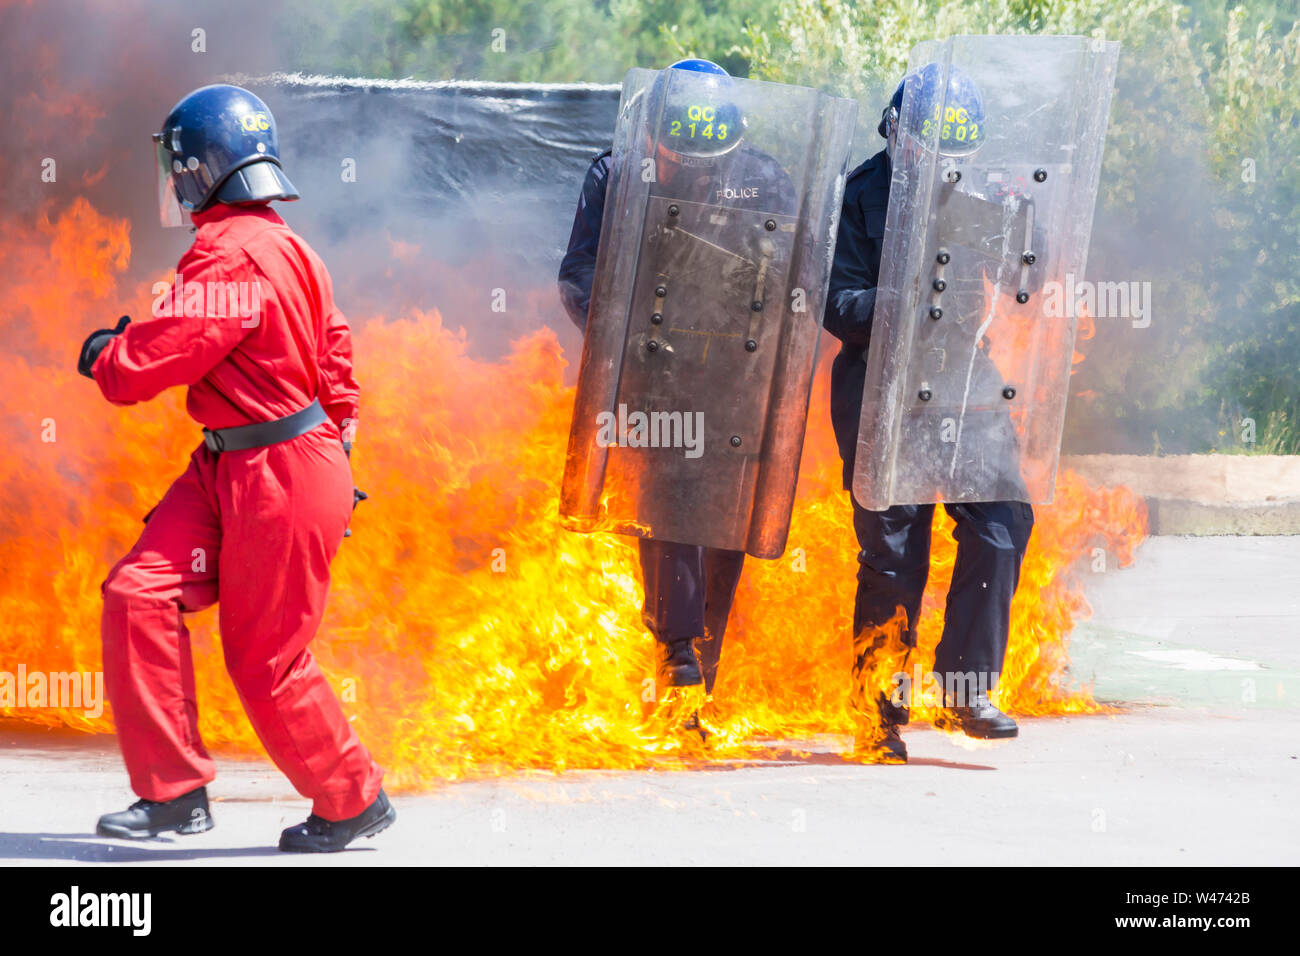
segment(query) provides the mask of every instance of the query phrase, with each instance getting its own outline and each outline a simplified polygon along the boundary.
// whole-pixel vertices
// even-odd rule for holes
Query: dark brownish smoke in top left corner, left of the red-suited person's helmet
[[[133,224],[136,259],[168,250],[153,261],[174,261],[172,251],[183,250],[187,237],[144,228],[157,222],[150,134],[194,87],[274,62],[270,36],[248,29],[264,8],[251,0],[183,8],[43,0],[0,9],[4,215],[31,217],[87,196]],[[53,182],[42,176],[47,159],[55,161]]]

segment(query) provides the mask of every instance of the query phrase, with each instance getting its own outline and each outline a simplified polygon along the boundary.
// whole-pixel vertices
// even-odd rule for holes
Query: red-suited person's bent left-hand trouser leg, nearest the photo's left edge
[[[216,775],[199,739],[182,611],[217,598],[216,464],[200,449],[104,581],[104,683],[131,790],[173,800]]]

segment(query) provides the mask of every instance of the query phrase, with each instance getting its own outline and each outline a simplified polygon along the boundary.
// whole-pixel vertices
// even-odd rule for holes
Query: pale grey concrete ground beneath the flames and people
[[[452,784],[395,797],[391,830],[329,857],[274,849],[308,808],[259,762],[221,762],[208,834],[100,840],[96,816],[133,799],[116,743],[5,722],[0,864],[1300,862],[1300,537],[1156,537],[1088,596],[1072,669],[1121,714],[966,747],[914,727],[904,767],[845,763],[831,739]]]

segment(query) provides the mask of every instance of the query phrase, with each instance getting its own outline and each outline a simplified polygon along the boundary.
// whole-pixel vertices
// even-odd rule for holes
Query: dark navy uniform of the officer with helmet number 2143
[[[559,271],[564,308],[584,330],[592,304],[610,161],[610,151],[602,152],[588,169],[568,251]],[[685,200],[772,212],[797,211],[793,185],[780,165],[772,157],[744,146],[714,160],[688,160],[676,165],[671,181],[654,183],[651,193],[670,189],[675,198]],[[646,628],[664,645],[694,640],[705,688],[712,692],[745,553],[656,538],[640,538],[640,549]]]

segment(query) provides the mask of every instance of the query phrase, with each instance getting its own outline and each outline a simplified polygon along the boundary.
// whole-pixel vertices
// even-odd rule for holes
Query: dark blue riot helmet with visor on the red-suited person
[[[217,83],[177,103],[153,134],[159,164],[159,217],[185,225],[213,203],[298,199],[280,168],[270,109],[238,86]]]

